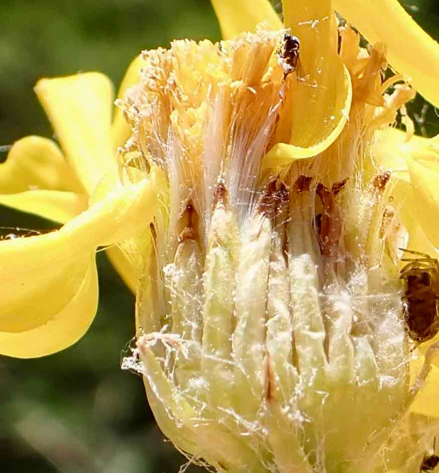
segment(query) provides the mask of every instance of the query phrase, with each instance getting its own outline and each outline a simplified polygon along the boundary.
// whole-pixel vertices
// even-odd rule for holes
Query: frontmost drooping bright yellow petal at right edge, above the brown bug
[[[439,146],[431,146],[407,157],[417,219],[428,240],[439,248]],[[437,140],[436,140],[437,142]]]

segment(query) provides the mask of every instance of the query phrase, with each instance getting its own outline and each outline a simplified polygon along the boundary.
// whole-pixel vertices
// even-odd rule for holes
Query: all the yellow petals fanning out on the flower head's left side
[[[140,64],[140,58],[131,64],[119,97],[139,80]],[[107,218],[116,225],[134,211],[130,203],[140,204],[138,198],[151,193],[131,222],[136,223],[153,214],[157,201],[154,173],[148,181],[120,183],[117,148],[130,129],[119,109],[112,124],[114,93],[107,77],[90,72],[44,79],[35,90],[65,156],[47,138],[16,142],[0,165],[0,203],[66,225],[37,239],[1,244],[2,271],[11,278],[2,289],[0,351],[17,357],[62,350],[85,333],[97,308],[97,246],[108,246],[109,258],[135,290],[136,269],[116,246],[121,239],[112,239],[106,223],[100,229],[90,223]],[[89,202],[95,205],[88,209]]]

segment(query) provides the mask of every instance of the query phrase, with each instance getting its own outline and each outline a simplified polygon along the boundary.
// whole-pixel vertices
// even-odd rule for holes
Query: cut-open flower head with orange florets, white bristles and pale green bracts
[[[382,44],[342,28],[349,121],[297,159],[279,143],[309,77],[289,34],[144,53],[121,103],[126,163],[163,169],[170,192],[150,227],[137,350],[165,435],[218,471],[379,471],[428,370],[410,383],[406,232],[372,155],[414,91],[383,81]]]

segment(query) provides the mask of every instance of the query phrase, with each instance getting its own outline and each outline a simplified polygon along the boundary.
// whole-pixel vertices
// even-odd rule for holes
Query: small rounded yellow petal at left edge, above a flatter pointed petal
[[[41,136],[27,136],[14,143],[0,164],[0,194],[35,189],[83,192],[58,146]]]

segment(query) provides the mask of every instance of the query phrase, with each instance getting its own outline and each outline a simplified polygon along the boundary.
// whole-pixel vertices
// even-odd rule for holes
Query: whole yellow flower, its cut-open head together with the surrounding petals
[[[120,244],[140,276],[134,351],[178,448],[218,471],[413,471],[438,429],[439,369],[435,345],[408,339],[415,302],[402,282],[431,294],[436,273],[411,255],[420,269],[401,281],[399,248],[408,234],[435,256],[439,168],[436,140],[402,142],[410,133],[389,127],[410,81],[439,104],[439,48],[396,0],[285,0],[291,31],[266,0],[213,5],[227,41],[175,41],[140,59],[119,101],[131,130],[115,132],[117,144],[130,135],[120,153],[99,112],[101,76],[37,86],[76,181],[34,139],[55,178],[2,197],[35,211],[36,182],[49,188],[42,202],[61,192],[71,205],[39,211],[68,220],[60,230],[0,244],[0,350],[39,356],[77,340],[96,309],[94,252]],[[334,9],[375,44],[361,48]],[[386,58],[410,81],[383,83]],[[19,149],[3,165],[14,180]]]

